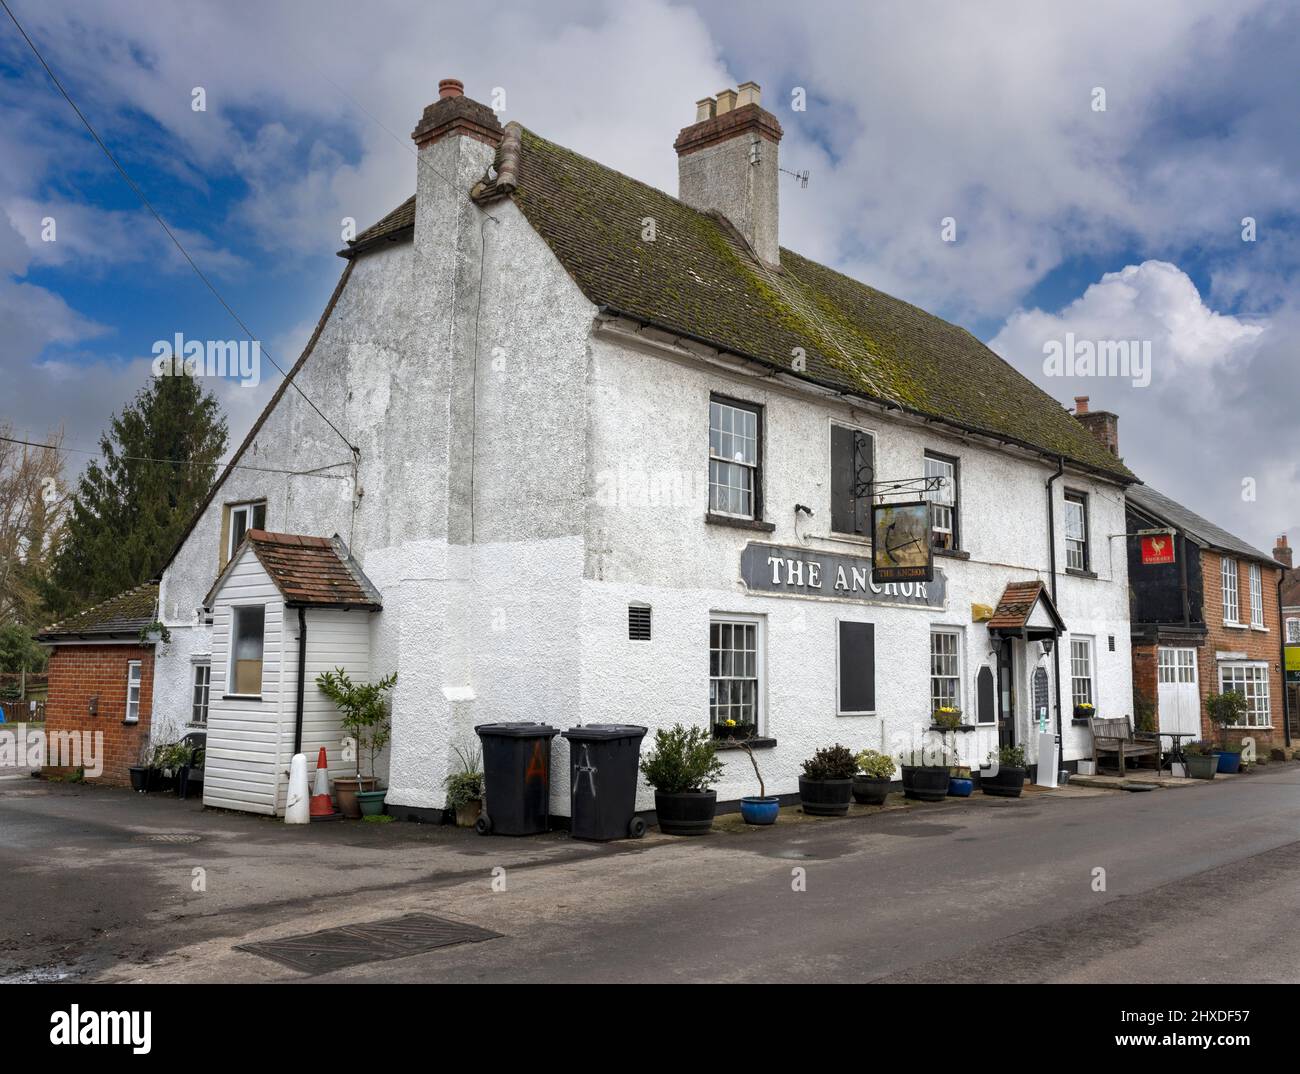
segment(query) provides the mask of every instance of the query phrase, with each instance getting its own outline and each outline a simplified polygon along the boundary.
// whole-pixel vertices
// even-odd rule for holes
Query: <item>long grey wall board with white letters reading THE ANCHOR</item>
[[[788,597],[824,597],[832,601],[862,601],[868,605],[902,605],[941,609],[948,598],[948,579],[935,571],[927,581],[876,581],[871,560],[788,545],[750,541],[740,554],[740,576],[755,593]]]

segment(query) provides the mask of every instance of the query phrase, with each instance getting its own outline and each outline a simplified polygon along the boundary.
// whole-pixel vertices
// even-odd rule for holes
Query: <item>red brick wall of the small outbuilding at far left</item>
[[[140,719],[126,719],[126,666],[140,662]],[[99,694],[99,714],[90,715],[90,698]],[[103,732],[100,783],[129,784],[130,767],[139,763],[140,745],[150,737],[153,711],[153,650],[139,645],[58,645],[49,657],[49,700],[46,740],[58,731]],[[66,771],[47,768],[47,771]],[[90,776],[87,776],[88,779]]]

